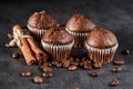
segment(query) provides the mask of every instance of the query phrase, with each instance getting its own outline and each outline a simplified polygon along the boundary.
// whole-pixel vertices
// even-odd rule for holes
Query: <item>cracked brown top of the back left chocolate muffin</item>
[[[34,12],[28,19],[28,26],[35,29],[49,29],[58,24],[57,19],[45,11]]]

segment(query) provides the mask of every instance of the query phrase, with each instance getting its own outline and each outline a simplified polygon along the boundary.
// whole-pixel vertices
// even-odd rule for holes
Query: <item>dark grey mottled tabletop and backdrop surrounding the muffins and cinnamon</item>
[[[82,13],[90,18],[98,27],[114,32],[119,40],[115,59],[123,59],[119,73],[111,72],[112,63],[98,69],[100,76],[89,76],[91,70],[78,69],[68,71],[53,67],[53,77],[44,78],[44,82],[32,82],[34,76],[41,76],[38,66],[25,66],[23,58],[12,59],[12,51],[17,48],[6,48],[9,41],[7,33],[12,31],[16,23],[27,26],[28,18],[35,11],[45,10],[53,14],[62,24],[74,13]],[[133,50],[133,1],[132,0],[18,0],[0,2],[0,89],[133,89],[133,52],[121,55],[122,49]],[[31,77],[20,77],[21,71],[30,70]],[[117,78],[117,87],[109,87],[109,82]]]

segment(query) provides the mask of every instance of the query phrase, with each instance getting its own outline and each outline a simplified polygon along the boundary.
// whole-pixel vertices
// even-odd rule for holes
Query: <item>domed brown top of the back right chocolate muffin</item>
[[[95,24],[81,14],[73,14],[66,22],[66,29],[73,32],[90,32]]]

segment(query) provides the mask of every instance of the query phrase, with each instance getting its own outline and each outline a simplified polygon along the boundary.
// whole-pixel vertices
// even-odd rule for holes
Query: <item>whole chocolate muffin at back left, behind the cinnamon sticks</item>
[[[28,19],[29,30],[39,39],[48,29],[57,26],[59,26],[57,19],[45,11],[34,12]]]

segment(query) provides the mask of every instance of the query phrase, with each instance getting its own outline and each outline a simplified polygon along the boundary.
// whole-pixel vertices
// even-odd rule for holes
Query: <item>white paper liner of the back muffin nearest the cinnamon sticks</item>
[[[47,31],[47,30],[44,30],[44,29],[31,28],[30,26],[28,26],[28,28],[29,28],[29,30],[30,30],[34,36],[37,36],[39,39],[41,39],[42,36],[44,34],[44,32]]]

